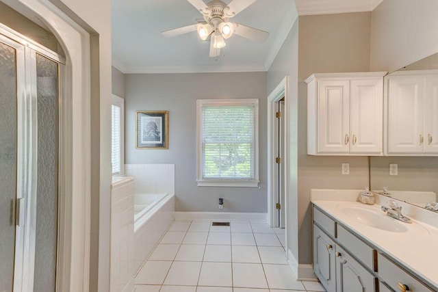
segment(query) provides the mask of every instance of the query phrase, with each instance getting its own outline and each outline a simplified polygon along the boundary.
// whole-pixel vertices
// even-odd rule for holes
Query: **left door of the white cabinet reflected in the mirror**
[[[396,76],[388,79],[387,139],[389,154],[423,152],[422,77]]]

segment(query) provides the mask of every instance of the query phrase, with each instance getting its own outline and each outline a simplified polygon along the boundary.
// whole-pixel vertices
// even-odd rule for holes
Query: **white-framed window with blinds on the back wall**
[[[196,107],[198,186],[257,187],[258,99],[200,99]]]

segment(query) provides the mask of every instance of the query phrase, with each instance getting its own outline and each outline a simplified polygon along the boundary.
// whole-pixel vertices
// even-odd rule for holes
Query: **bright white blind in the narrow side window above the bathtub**
[[[120,107],[111,105],[111,163],[112,174],[120,174],[121,158],[121,115]]]

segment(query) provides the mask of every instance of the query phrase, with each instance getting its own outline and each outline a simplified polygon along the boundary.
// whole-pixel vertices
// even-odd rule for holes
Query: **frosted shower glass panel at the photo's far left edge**
[[[0,291],[12,291],[16,198],[16,55],[0,42]]]

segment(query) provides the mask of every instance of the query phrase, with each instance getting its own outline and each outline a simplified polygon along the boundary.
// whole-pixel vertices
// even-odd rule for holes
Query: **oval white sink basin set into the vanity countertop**
[[[342,212],[355,222],[370,226],[373,228],[390,231],[393,233],[407,232],[407,226],[397,222],[394,218],[387,216],[385,213],[376,213],[372,210],[360,207],[343,207]]]

